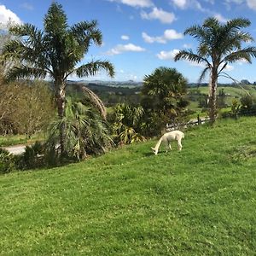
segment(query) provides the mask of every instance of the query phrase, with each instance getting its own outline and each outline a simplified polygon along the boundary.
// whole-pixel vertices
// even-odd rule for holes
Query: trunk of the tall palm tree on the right
[[[216,116],[217,116],[217,80],[218,80],[218,73],[212,71],[212,81],[210,84],[210,97],[209,97],[209,107],[210,107],[210,112],[209,112],[209,117],[210,121],[213,124],[215,122]]]

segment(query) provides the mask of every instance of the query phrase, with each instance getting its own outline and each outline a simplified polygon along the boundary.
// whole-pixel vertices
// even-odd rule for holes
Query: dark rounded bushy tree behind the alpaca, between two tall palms
[[[188,106],[183,97],[186,92],[187,79],[175,68],[159,67],[146,75],[143,79],[142,105],[147,111],[148,121],[165,126],[180,118],[183,109]],[[153,116],[156,119],[153,120]]]

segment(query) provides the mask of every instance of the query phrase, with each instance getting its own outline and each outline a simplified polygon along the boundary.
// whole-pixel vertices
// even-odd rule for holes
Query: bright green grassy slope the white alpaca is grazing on
[[[3,255],[253,255],[255,118],[0,177]]]

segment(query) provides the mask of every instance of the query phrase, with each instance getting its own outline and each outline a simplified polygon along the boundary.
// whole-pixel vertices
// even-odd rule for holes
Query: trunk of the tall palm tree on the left
[[[58,109],[59,119],[63,120],[65,117],[65,100],[66,100],[66,83],[61,79],[55,80],[55,99]],[[66,153],[66,125],[65,122],[61,122],[60,125],[60,145],[61,155]]]

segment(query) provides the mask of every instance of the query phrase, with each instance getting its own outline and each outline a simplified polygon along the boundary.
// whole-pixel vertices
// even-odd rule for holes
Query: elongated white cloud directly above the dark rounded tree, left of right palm
[[[176,32],[174,29],[166,29],[164,35],[160,37],[150,37],[146,32],[143,32],[142,36],[144,41],[149,44],[155,42],[160,44],[166,44],[167,41],[183,38],[183,34]]]

